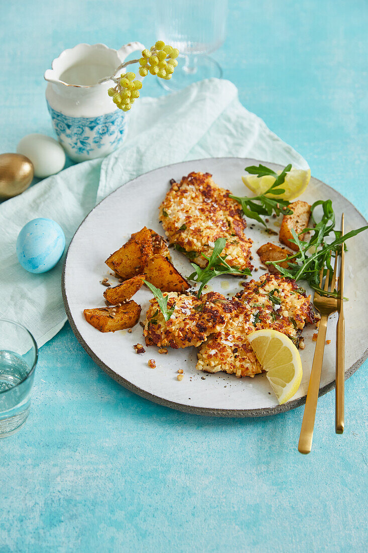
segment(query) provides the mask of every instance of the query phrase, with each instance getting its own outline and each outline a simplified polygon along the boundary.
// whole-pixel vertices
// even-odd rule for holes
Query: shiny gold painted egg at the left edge
[[[33,164],[21,154],[0,154],[0,198],[18,196],[33,180]]]

